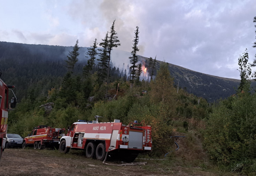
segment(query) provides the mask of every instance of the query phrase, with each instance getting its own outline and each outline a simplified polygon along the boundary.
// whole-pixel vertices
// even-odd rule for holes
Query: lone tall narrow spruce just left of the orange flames
[[[130,63],[131,63],[131,86],[133,85],[134,81],[135,81],[135,77],[136,77],[136,68],[138,68],[138,66],[136,65],[138,62],[138,56],[137,53],[139,52],[138,49],[138,43],[139,43],[139,27],[136,26],[136,30],[134,31],[134,39],[133,39],[133,46],[132,46],[132,56],[129,57],[130,59]]]

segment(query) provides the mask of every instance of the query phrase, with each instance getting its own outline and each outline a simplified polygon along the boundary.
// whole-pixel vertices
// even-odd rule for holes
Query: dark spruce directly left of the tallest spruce
[[[102,82],[105,81],[107,77],[107,69],[108,69],[108,32],[104,39],[101,39],[102,42],[100,43],[100,46],[102,49],[98,49],[100,58],[97,59],[98,66],[100,67],[100,79]]]

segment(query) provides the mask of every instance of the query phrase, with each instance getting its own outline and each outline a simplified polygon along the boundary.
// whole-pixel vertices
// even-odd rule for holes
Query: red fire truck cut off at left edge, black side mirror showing
[[[0,70],[0,77],[1,75],[2,72]],[[10,88],[14,88],[14,86],[7,86],[0,79],[0,159],[6,142],[8,110],[15,108],[17,101],[17,98],[13,93],[14,97],[12,97],[11,102],[8,103],[9,90],[12,91]]]

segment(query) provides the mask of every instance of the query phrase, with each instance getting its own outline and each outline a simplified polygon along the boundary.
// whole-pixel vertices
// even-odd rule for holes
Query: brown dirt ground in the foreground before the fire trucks
[[[137,161],[137,160],[136,160]],[[145,161],[145,160],[138,160]],[[217,176],[200,167],[175,166],[167,160],[147,160],[146,165],[107,166],[95,159],[87,159],[81,151],[61,154],[57,150],[5,149],[0,161],[0,176],[84,176],[84,175],[181,175]],[[109,162],[110,163],[110,162]],[[113,162],[112,162],[113,163]],[[222,174],[221,174],[222,175]]]

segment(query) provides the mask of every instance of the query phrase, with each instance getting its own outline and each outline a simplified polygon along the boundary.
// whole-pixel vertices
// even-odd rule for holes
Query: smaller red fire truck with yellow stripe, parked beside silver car
[[[43,149],[44,147],[59,147],[61,136],[65,135],[65,128],[51,128],[45,125],[34,127],[28,137],[25,137],[22,148],[34,146],[34,149]]]

